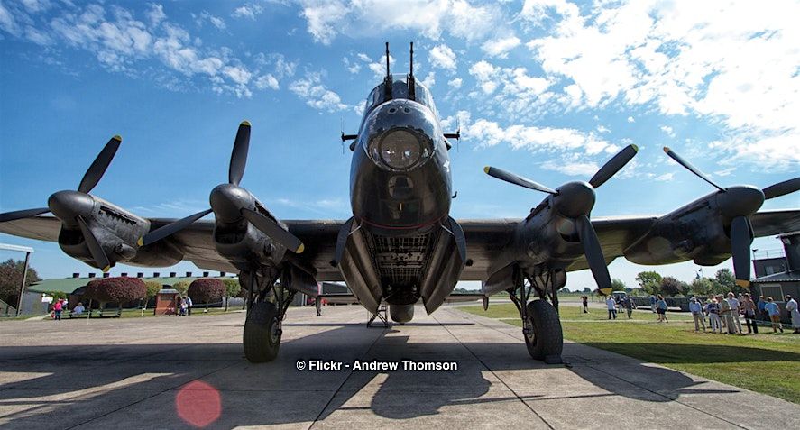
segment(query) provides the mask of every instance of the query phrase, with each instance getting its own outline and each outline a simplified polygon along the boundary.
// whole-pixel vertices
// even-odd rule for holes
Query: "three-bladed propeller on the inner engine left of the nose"
[[[255,207],[253,195],[244,188],[239,187],[239,183],[244,177],[244,168],[247,165],[247,152],[250,149],[250,123],[243,121],[239,124],[239,130],[234,139],[234,149],[231,152],[231,162],[228,169],[228,183],[222,184],[211,191],[211,209],[189,215],[179,219],[174,223],[167,224],[145,234],[139,239],[139,245],[145,246],[161,239],[178,233],[188,227],[203,216],[212,211],[218,221],[234,223],[244,217],[250,224],[262,233],[269,236],[273,241],[280,243],[287,249],[300,253],[303,252],[303,242],[292,233],[276,223],[270,217],[253,210]]]

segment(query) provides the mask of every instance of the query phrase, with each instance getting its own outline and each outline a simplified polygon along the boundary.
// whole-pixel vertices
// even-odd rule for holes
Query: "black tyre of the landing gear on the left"
[[[275,360],[280,348],[278,307],[270,302],[256,302],[244,321],[244,356],[250,362]]]

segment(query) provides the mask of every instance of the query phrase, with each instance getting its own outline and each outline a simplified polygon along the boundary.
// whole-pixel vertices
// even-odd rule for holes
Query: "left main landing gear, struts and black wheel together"
[[[250,362],[272,361],[278,356],[283,318],[296,291],[289,289],[289,270],[278,280],[276,270],[243,270],[239,279],[247,288],[244,320],[244,356]]]

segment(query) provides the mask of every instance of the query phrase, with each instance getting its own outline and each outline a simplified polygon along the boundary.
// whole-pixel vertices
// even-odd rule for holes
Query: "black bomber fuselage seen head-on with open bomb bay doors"
[[[382,301],[412,306],[422,298],[432,311],[440,303],[431,297],[441,288],[449,294],[457,279],[423,288],[446,266],[435,257],[450,252],[452,242],[441,240],[452,198],[448,145],[428,89],[406,75],[384,79],[367,99],[351,148],[354,233],[345,280],[370,310]]]

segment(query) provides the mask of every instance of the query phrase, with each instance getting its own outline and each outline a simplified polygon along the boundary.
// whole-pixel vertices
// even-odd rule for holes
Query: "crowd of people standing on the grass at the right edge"
[[[795,334],[800,334],[800,311],[794,298],[786,295],[786,312],[792,318],[792,326]],[[735,297],[729,292],[728,297],[722,295],[710,296],[703,303],[700,298],[692,297],[689,299],[689,312],[694,318],[694,331],[699,332],[702,328],[706,330],[705,318],[708,317],[712,333],[744,334],[741,325],[741,317],[744,317],[745,326],[748,334],[758,334],[758,320],[768,321],[772,325],[772,332],[784,332],[780,322],[780,307],[777,306],[772,297],[759,297],[758,302],[754,302],[749,293],[740,294]],[[723,331],[724,330],[724,331]]]

